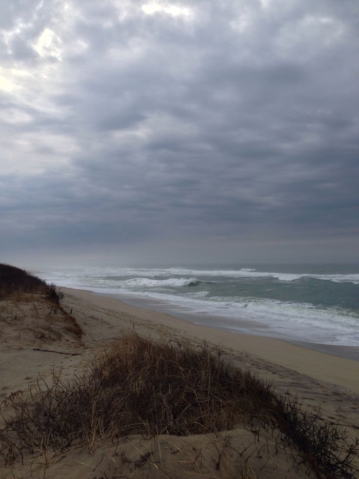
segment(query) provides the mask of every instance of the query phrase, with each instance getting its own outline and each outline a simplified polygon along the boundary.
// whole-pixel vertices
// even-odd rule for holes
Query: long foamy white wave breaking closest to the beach
[[[103,292],[100,289],[97,292]],[[264,334],[308,343],[359,346],[359,316],[340,307],[318,307],[311,303],[281,302],[252,297],[206,297],[202,294],[175,295],[156,291],[108,290],[108,294],[124,294],[154,308],[153,300],[166,304],[166,312],[190,314],[198,324],[229,329],[234,332]],[[156,308],[154,308],[156,309]],[[354,315],[353,315],[354,313]],[[208,319],[215,318],[218,319]],[[196,319],[198,318],[198,319]],[[211,322],[212,321],[212,322]],[[214,322],[213,322],[214,321]]]

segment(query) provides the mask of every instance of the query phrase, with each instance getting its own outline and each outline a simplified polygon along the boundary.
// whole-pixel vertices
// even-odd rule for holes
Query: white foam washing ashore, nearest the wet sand
[[[340,308],[319,308],[310,303],[280,302],[257,298],[226,298],[151,294],[160,301],[185,308],[191,314],[204,314],[250,321],[263,325],[262,333],[270,332],[285,339],[307,342],[359,346],[359,317]],[[236,300],[237,299],[237,300]],[[219,322],[221,324],[221,322]]]

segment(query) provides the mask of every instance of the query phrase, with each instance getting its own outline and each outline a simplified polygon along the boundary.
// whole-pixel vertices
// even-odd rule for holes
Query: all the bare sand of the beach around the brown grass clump
[[[164,312],[155,312],[124,304],[118,299],[101,296],[90,291],[70,288],[62,288],[61,291],[64,293],[64,298],[61,301],[63,310],[72,313],[82,328],[83,335],[79,339],[68,334],[59,333],[59,337],[52,340],[51,347],[45,343],[42,344],[42,347],[39,347],[41,346],[40,342],[38,341],[35,344],[25,331],[22,335],[18,334],[12,338],[10,336],[7,338],[7,333],[5,332],[2,338],[0,356],[0,369],[2,371],[0,391],[2,398],[15,391],[26,391],[29,386],[31,387],[36,383],[38,374],[45,380],[48,380],[51,378],[52,371],[58,371],[62,372],[66,379],[71,379],[75,374],[80,374],[81,371],[86,369],[104,348],[110,347],[113,341],[126,334],[137,333],[142,337],[163,343],[189,340],[192,344],[199,345],[205,340],[210,346],[220,346],[226,360],[233,362],[240,368],[250,368],[263,379],[273,381],[275,390],[278,393],[286,394],[290,392],[293,396],[298,396],[304,408],[318,411],[320,407],[321,415],[325,420],[343,424],[348,430],[349,437],[358,436],[359,362],[356,360],[321,353],[279,339],[211,329],[176,318]],[[28,311],[26,315],[29,318],[31,312]],[[35,326],[35,317],[33,321]],[[27,327],[31,328],[31,318],[28,319],[28,322]],[[35,351],[34,347],[39,350],[42,349],[42,351]],[[243,434],[247,435],[247,433],[248,431],[245,431]],[[232,432],[231,434],[233,437],[237,437],[239,432]],[[212,441],[212,446],[216,444],[215,447],[218,448],[219,442],[223,440],[223,437],[217,437],[217,442]],[[208,435],[206,440],[210,439],[212,440],[213,437]],[[202,449],[204,454],[206,447],[209,446],[202,443],[203,440],[202,436],[200,438],[180,438],[176,447],[181,451],[186,451],[185,454],[187,455],[192,447],[198,447],[198,450]],[[243,437],[239,435],[236,440],[237,443],[243,441]],[[134,448],[133,454],[135,454],[134,451],[139,449],[139,444],[136,441],[140,441],[140,439],[137,438],[132,445],[127,444],[128,448]],[[172,438],[171,441],[174,441],[174,439]],[[185,443],[187,444],[186,446]],[[154,447],[153,444],[151,446],[151,441],[146,443],[143,440],[141,444],[141,448],[147,446]],[[160,444],[162,442],[160,443],[159,440],[156,447],[160,448]],[[92,452],[88,450],[81,451],[81,453],[72,451],[63,454],[63,456],[56,458],[52,462],[49,461],[49,465],[46,466],[48,467],[46,473],[48,476],[42,476],[44,474],[43,461],[41,462],[40,460],[37,465],[33,465],[32,474],[34,475],[27,476],[26,474],[28,473],[24,472],[25,466],[20,467],[18,465],[18,469],[15,468],[14,471],[16,471],[16,474],[19,474],[16,477],[38,477],[35,474],[39,474],[39,477],[49,478],[104,477],[103,471],[105,469],[102,471],[101,467],[104,467],[106,461],[103,460],[103,457],[106,457],[106,460],[108,459],[108,464],[113,464],[115,459],[118,459],[118,457],[113,455],[114,446],[108,445],[103,448],[103,445],[94,445],[93,449]],[[94,451],[97,452],[94,453]],[[154,455],[159,453],[161,453],[161,449],[157,450],[157,452],[153,451]],[[164,463],[165,452],[162,450],[162,453],[163,458],[161,460]],[[101,454],[104,455],[102,460]],[[171,467],[174,468],[173,471],[177,468],[177,473],[173,473],[174,475],[170,476],[177,477],[176,474],[179,474],[178,471],[181,470],[179,469],[180,462],[176,463],[174,458],[179,458],[179,455],[174,455],[173,451],[168,454],[172,462],[167,461],[166,467],[163,470],[167,471],[166,474],[168,474]],[[304,477],[308,473],[306,467],[301,469],[298,466],[297,469],[293,469],[293,460],[289,460],[290,466],[285,462],[283,466],[285,470],[279,472],[279,464],[283,464],[282,459],[278,460],[273,455],[274,462],[271,462],[272,465],[268,466],[268,469],[266,469],[267,466],[264,467],[263,463],[257,459],[252,461],[251,467],[256,469],[256,464],[264,467],[261,469],[258,477]],[[186,461],[186,464],[191,462],[189,459],[182,458],[181,460],[183,461],[182,466]],[[97,466],[99,461],[102,465]],[[277,465],[274,466],[274,463]],[[109,467],[108,464],[106,462],[106,467]],[[209,472],[209,469],[205,469],[207,466],[203,467],[201,475],[204,475],[204,477],[224,477],[216,476],[215,468],[213,472]],[[260,467],[256,469],[257,474],[259,474]],[[273,471],[274,467],[276,467],[276,472]],[[199,469],[196,474],[199,473]],[[95,470],[96,474],[93,472]],[[289,470],[291,470],[290,473],[288,472]],[[77,471],[76,474],[74,471]],[[113,472],[114,469],[111,469],[111,471]],[[131,473],[127,471],[128,475],[126,477],[166,477],[165,475],[160,475],[162,473],[160,473],[158,465],[155,467],[152,464],[152,469],[151,467],[148,470],[146,469],[146,474],[149,474],[147,476],[140,475],[144,474],[143,471],[145,469],[141,471],[140,469]],[[92,476],[89,473],[92,473]],[[10,472],[10,469],[5,469],[2,474],[4,478],[13,477],[11,476],[12,472]],[[195,473],[193,472],[193,474]]]

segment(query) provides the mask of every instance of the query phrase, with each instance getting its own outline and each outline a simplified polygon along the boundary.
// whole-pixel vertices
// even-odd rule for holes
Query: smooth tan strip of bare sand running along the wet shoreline
[[[219,344],[225,351],[242,354],[248,358],[279,365],[306,375],[315,380],[328,382],[355,394],[359,394],[359,362],[358,360],[321,352],[306,347],[306,343],[294,344],[281,339],[231,333],[213,329],[208,326],[194,324],[165,312],[157,312],[139,306],[129,305],[118,298],[101,295],[88,290],[61,288],[66,294],[88,301],[97,307],[106,308],[116,313],[131,315],[134,318],[133,328],[139,332],[136,320],[149,321],[157,327],[170,328],[188,339],[196,338]],[[132,323],[131,323],[132,324]],[[161,329],[161,328],[159,328]],[[255,364],[255,361],[253,362]],[[269,375],[270,377],[270,375]]]

